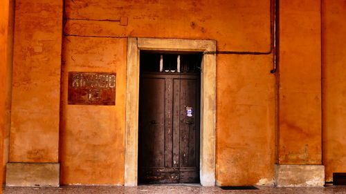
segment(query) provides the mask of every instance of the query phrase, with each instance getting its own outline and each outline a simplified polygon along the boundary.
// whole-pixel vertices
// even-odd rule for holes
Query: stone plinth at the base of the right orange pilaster
[[[282,187],[324,186],[323,165],[275,165],[275,185]]]

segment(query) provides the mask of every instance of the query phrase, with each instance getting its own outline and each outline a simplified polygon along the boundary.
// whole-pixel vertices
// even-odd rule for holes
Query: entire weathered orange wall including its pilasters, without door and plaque
[[[270,0],[67,0],[63,31],[62,6],[53,0],[16,1],[10,133],[10,162],[57,162],[60,149],[62,184],[124,183],[126,37],[215,39],[218,51],[271,51]],[[280,1],[278,99],[269,74],[273,53],[217,55],[218,184],[273,184],[275,159],[321,164],[322,127],[326,180],[346,171],[345,10],[345,0],[322,0],[321,56],[320,0]],[[128,17],[127,26],[75,20],[120,17]],[[8,19],[0,21],[2,38]],[[10,48],[3,41],[0,49]],[[0,63],[3,93],[10,78],[2,75],[10,77],[10,68]],[[69,71],[116,72],[116,106],[66,105]],[[0,126],[9,121],[4,112],[9,99],[0,95]]]

